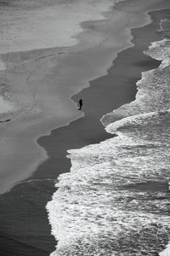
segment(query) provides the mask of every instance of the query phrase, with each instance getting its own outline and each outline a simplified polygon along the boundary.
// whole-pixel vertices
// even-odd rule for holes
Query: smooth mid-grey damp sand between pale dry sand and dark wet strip
[[[146,4],[149,10],[151,3],[153,0]],[[155,4],[156,8],[159,9],[159,4],[157,7]],[[105,20],[84,21],[83,32],[75,36],[79,43],[71,48],[3,55],[4,60],[8,59],[9,68],[2,80],[7,88],[4,95],[20,102],[24,108],[5,116],[3,120],[10,119],[10,122],[1,124],[1,193],[31,177],[48,159],[48,152],[37,143],[39,137],[49,135],[54,129],[83,116],[77,112],[77,104],[71,96],[74,98],[78,91],[88,87],[89,80],[105,75],[116,55],[132,45],[131,25],[138,27],[143,19],[144,26],[150,21],[141,6],[140,9],[139,20],[135,19],[136,14],[129,20],[126,12],[110,9],[103,14]]]

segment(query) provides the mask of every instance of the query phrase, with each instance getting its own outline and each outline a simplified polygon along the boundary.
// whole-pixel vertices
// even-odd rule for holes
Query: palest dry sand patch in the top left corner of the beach
[[[77,44],[74,35],[82,32],[81,22],[104,20],[100,13],[107,11],[111,5],[110,0],[96,5],[90,2],[1,10],[0,54]]]

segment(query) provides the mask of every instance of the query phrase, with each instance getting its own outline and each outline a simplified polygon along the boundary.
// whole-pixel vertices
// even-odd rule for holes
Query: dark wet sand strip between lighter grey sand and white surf
[[[84,118],[38,139],[49,159],[39,166],[30,180],[44,180],[20,183],[0,196],[0,255],[47,256],[54,251],[56,241],[50,235],[45,205],[55,191],[54,179],[59,173],[68,172],[71,166],[70,160],[65,158],[66,150],[111,137],[99,119],[112,109],[133,101],[141,73],[159,66],[160,61],[152,60],[143,51],[150,42],[161,39],[161,33],[156,29],[165,15],[170,16],[170,11],[155,12],[152,14],[154,23],[133,29],[135,46],[117,56],[107,75],[91,81],[88,89],[73,96],[76,102],[82,97]]]

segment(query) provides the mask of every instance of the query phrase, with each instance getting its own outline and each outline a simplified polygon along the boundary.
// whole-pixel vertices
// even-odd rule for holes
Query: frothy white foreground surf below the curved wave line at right
[[[170,231],[168,195],[133,191],[126,185],[163,183],[169,177],[169,117],[169,112],[150,113],[132,117],[132,123],[117,121],[112,131],[118,131],[118,137],[69,151],[71,173],[59,177],[59,189],[48,203],[53,234],[59,240],[53,255],[161,251]]]

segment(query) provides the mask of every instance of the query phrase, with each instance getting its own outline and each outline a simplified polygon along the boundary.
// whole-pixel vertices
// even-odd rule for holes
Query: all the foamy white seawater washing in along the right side
[[[144,52],[136,100],[101,120],[115,137],[69,150],[71,172],[48,202],[58,242],[52,256],[170,255],[170,40]]]

